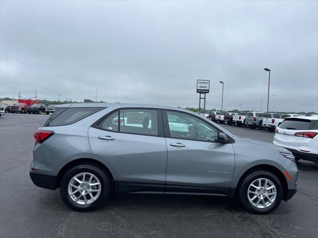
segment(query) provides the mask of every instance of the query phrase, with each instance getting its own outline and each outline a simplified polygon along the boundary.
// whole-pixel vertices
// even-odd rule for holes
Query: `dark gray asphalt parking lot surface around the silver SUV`
[[[271,214],[243,211],[223,196],[112,195],[101,209],[74,212],[59,190],[29,178],[33,133],[46,115],[0,117],[0,237],[317,237],[318,164],[299,161],[296,195]],[[234,134],[272,142],[274,133],[224,125]]]

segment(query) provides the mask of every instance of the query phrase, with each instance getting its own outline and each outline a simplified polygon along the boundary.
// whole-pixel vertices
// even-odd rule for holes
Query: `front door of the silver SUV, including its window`
[[[162,115],[168,156],[165,192],[226,194],[235,166],[232,144],[218,143],[220,131],[192,114],[163,110]]]

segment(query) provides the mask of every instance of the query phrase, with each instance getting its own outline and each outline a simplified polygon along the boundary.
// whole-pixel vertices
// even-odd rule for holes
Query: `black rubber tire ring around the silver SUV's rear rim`
[[[69,196],[68,187],[69,187],[69,182],[74,176],[84,172],[91,173],[99,179],[101,184],[100,186],[101,192],[98,198],[92,203],[81,205],[73,201],[72,198]],[[108,178],[107,173],[99,166],[95,164],[89,164],[89,163],[79,164],[71,168],[68,172],[64,174],[60,184],[60,194],[61,194],[62,200],[70,208],[79,212],[89,212],[105,204],[110,194],[110,191],[111,191],[110,179]]]

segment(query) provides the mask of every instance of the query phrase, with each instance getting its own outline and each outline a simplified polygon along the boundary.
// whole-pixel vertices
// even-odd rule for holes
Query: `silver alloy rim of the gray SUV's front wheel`
[[[265,178],[255,179],[247,189],[247,199],[254,207],[267,208],[276,200],[277,190],[275,184]]]

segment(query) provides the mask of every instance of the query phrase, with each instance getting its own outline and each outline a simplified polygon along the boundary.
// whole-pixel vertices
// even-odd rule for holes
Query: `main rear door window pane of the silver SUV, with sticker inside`
[[[120,110],[120,132],[143,135],[158,135],[157,110]]]

